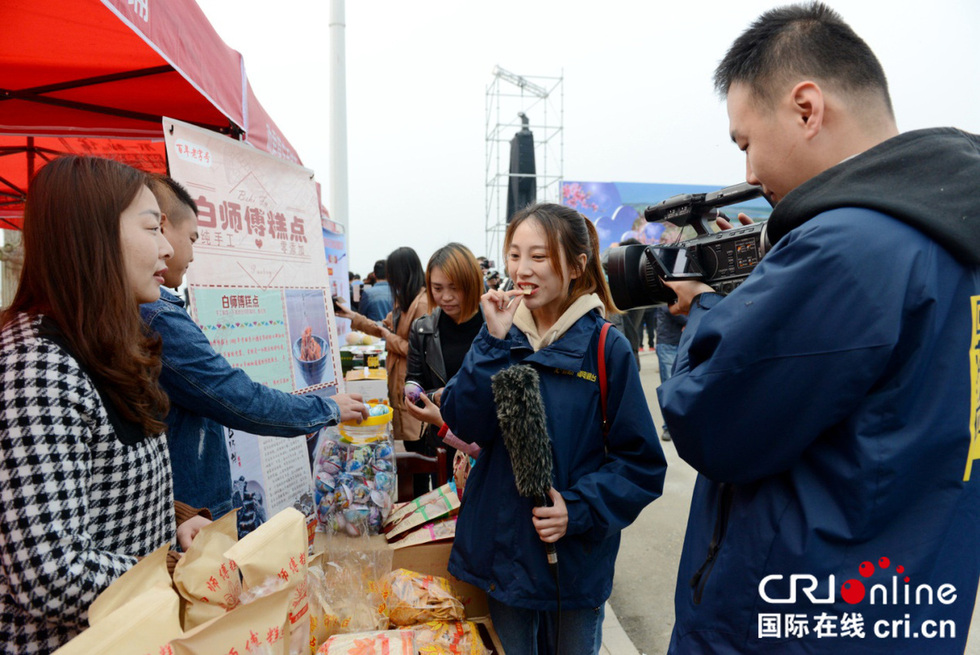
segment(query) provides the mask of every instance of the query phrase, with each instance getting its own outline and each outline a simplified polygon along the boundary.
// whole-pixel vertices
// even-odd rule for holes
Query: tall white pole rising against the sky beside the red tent
[[[347,63],[344,0],[330,0],[330,218],[350,230],[347,207]]]

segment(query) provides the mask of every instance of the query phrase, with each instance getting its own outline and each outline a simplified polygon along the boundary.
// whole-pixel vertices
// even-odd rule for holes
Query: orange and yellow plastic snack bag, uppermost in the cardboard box
[[[392,625],[466,618],[463,602],[456,598],[445,578],[397,569],[385,578],[381,593]]]

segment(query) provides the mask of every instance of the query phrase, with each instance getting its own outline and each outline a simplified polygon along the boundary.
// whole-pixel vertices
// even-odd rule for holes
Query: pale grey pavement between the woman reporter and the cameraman
[[[657,357],[641,353],[640,364],[647,402],[659,426]],[[623,533],[603,625],[604,655],[661,654],[670,643],[677,564],[696,475],[672,443],[663,446],[668,464],[664,494]],[[980,655],[980,603],[974,609],[966,655]]]

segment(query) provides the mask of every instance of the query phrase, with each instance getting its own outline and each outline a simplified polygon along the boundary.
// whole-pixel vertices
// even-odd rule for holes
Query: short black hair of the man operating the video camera
[[[715,69],[715,90],[749,86],[769,102],[788,76],[812,77],[843,92],[879,95],[894,115],[878,58],[840,14],[822,2],[765,12],[739,36]]]

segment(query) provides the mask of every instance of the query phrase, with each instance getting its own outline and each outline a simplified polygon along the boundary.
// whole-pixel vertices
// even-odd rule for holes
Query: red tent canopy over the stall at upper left
[[[164,116],[299,163],[194,0],[0,3],[0,227],[60,153],[164,171]]]

